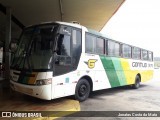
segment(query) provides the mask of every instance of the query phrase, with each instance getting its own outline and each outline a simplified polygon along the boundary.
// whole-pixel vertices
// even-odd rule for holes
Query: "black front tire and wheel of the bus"
[[[86,79],[78,81],[75,90],[75,99],[82,102],[85,101],[90,94],[90,84]]]

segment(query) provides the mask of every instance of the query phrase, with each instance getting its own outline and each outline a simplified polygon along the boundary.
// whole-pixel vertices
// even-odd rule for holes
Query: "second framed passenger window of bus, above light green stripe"
[[[120,55],[120,44],[114,41],[108,41],[108,55],[119,56]]]

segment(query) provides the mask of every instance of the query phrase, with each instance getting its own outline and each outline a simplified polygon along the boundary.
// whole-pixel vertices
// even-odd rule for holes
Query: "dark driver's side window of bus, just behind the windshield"
[[[56,43],[56,55],[54,56],[54,76],[72,71],[71,54],[71,27],[61,26],[60,34]]]

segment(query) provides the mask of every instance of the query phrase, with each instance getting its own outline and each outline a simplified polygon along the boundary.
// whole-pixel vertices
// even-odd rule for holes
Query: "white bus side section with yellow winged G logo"
[[[81,77],[91,78],[93,91],[111,88],[99,55],[82,53],[77,71]]]

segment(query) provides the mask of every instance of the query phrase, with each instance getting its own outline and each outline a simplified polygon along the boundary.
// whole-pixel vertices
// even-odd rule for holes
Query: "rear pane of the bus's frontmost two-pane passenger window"
[[[101,38],[96,39],[96,53],[104,54],[104,40]]]

